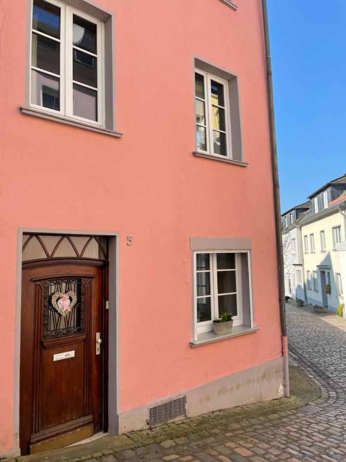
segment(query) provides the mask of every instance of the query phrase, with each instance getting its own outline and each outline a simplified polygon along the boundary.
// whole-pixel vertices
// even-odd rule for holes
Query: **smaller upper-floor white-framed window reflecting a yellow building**
[[[197,151],[232,159],[228,83],[195,69]]]

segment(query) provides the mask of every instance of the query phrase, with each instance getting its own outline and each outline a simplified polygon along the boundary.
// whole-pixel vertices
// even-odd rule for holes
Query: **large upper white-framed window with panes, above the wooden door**
[[[33,0],[30,107],[105,125],[104,24],[56,0]]]

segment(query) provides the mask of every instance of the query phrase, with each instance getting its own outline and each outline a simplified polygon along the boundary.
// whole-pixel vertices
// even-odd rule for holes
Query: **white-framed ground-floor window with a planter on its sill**
[[[213,320],[222,313],[233,315],[234,326],[249,317],[243,312],[243,298],[251,300],[249,261],[248,251],[194,252],[197,334],[212,331]]]

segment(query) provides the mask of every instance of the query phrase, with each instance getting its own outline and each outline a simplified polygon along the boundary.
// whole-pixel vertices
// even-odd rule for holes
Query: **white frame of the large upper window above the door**
[[[60,8],[60,38],[55,38],[47,35],[43,32],[39,32],[32,27],[32,14],[33,14],[33,1],[31,2],[31,34],[30,34],[30,76],[29,76],[29,105],[34,109],[38,109],[40,112],[49,113],[52,115],[60,115],[66,119],[74,120],[75,122],[83,122],[88,125],[105,127],[105,27],[104,23],[96,20],[94,17],[89,16],[82,11],[76,10],[75,8],[66,5],[65,3],[58,2],[57,0],[44,0],[46,3],[50,3]],[[97,43],[97,54],[90,53],[87,50],[78,48],[73,45],[73,14],[78,17],[89,21],[96,25],[96,43]],[[31,53],[32,53],[32,34],[41,35],[54,42],[59,42],[59,54],[60,54],[60,75],[52,72],[34,67],[31,65]],[[85,54],[92,55],[97,58],[97,121],[79,117],[73,114],[73,49],[81,51]],[[67,63],[70,63],[67,65]],[[51,75],[59,79],[59,103],[60,109],[50,109],[47,107],[39,106],[32,103],[31,101],[31,73],[32,69],[37,72]],[[75,82],[76,85],[95,90],[95,87],[90,87],[80,82]]]

